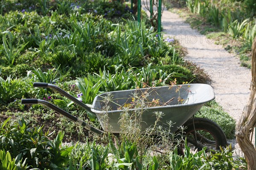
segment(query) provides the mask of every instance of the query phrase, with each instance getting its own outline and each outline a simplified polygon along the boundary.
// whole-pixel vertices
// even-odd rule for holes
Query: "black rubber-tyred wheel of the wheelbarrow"
[[[194,118],[194,123],[193,119],[189,119],[183,126],[186,127],[183,132],[191,151],[200,151],[206,147],[208,152],[227,145],[227,138],[221,127],[207,118]],[[181,144],[179,148],[181,155],[183,155],[183,147],[184,144]]]

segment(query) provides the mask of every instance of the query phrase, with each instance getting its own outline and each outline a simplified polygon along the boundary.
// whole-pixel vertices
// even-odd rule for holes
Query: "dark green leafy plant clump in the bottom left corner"
[[[15,164],[20,162],[16,164],[18,168],[24,169],[25,167],[52,169],[67,164],[73,146],[62,145],[64,133],[59,132],[52,141],[49,139],[52,133],[43,133],[43,127],[32,128],[23,119],[18,124],[11,122],[10,119],[11,117],[6,119],[0,126],[2,138],[0,150],[6,150],[6,155],[9,155],[9,160],[6,161],[11,163],[10,157],[15,158]]]

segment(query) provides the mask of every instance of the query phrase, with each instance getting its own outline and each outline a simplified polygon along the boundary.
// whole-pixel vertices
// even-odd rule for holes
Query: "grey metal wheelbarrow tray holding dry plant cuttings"
[[[156,116],[154,112],[157,111],[164,113],[159,125],[165,127],[166,121],[172,121],[175,124],[171,130],[172,132],[175,132],[178,127],[183,125],[190,117],[195,115],[195,113],[205,103],[215,98],[212,87],[207,84],[184,84],[173,86],[172,88],[170,88],[170,86],[161,86],[145,89],[122,90],[106,92],[96,96],[96,98],[94,98],[91,111],[96,113],[103,129],[104,126],[102,122],[102,114],[108,114],[108,123],[112,127],[111,133],[119,133],[120,130],[118,121],[120,114],[123,112],[123,110],[120,109],[120,106],[130,104],[134,94],[141,96],[143,93],[148,93],[148,101],[158,99],[159,103],[166,104],[165,106],[143,108],[144,112],[142,114],[141,122],[142,132],[147,127],[155,123]],[[112,102],[109,103],[111,111],[106,113],[106,111],[103,110],[105,106],[104,97],[107,97],[108,95],[112,96]],[[170,101],[171,99],[173,100]],[[179,99],[183,99],[183,102],[178,101]],[[134,109],[129,109],[129,112],[133,111]]]

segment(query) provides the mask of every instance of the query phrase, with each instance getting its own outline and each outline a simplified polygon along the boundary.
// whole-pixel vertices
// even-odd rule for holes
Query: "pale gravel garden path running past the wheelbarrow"
[[[209,75],[215,100],[238,122],[250,95],[250,69],[241,67],[238,58],[221,45],[215,45],[212,38],[206,38],[192,29],[178,14],[164,10],[162,26],[164,37],[178,39],[187,49],[185,60],[200,66]],[[236,153],[241,155],[236,140],[232,142],[235,144]]]

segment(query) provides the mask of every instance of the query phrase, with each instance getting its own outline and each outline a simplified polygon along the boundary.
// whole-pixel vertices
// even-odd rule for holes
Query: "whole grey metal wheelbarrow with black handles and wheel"
[[[104,114],[107,114],[109,117],[108,124],[112,127],[110,129],[110,133],[119,135],[120,125],[118,122],[123,109],[125,107],[127,109],[128,106],[128,112],[134,112],[134,94],[136,94],[136,96],[143,96],[147,94],[146,99],[150,102],[148,105],[143,107],[144,112],[141,115],[142,121],[140,123],[142,133],[155,123],[155,112],[158,111],[164,113],[161,120],[158,122],[158,125],[166,127],[166,121],[175,122],[175,126],[171,128],[173,133],[175,133],[180,126],[186,127],[184,132],[188,143],[198,148],[198,150],[201,150],[203,147],[207,147],[207,150],[218,150],[220,146],[225,147],[227,145],[226,136],[218,124],[207,118],[194,117],[195,113],[198,112],[205,103],[215,98],[212,87],[207,84],[183,84],[177,86],[161,86],[105,92],[97,95],[90,107],[53,84],[35,82],[33,86],[51,88],[59,92],[61,95],[66,96],[87,112],[96,115],[102,125],[103,131],[85,123],[73,115],[70,115],[68,112],[49,103],[48,101],[39,99],[22,99],[21,104],[45,105],[53,109],[55,112],[74,121],[76,124],[79,124],[98,135],[104,135],[106,133],[102,118],[102,115]],[[104,110],[106,105],[105,98],[110,96],[111,102],[108,103],[108,110]]]

